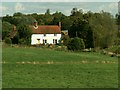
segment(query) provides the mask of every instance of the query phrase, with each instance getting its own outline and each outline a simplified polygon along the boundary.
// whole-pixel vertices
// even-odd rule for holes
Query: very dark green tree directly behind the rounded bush
[[[76,18],[69,30],[71,38],[79,37],[85,42],[86,48],[93,48],[93,33],[86,19]]]

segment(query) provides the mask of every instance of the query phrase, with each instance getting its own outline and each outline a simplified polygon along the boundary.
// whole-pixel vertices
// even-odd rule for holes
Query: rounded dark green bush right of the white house
[[[83,39],[75,37],[67,45],[68,50],[79,51],[85,48]]]

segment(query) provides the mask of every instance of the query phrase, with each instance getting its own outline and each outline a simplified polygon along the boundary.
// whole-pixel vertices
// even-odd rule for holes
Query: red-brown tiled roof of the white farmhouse
[[[57,25],[45,25],[38,26],[38,28],[34,28],[34,26],[30,26],[33,34],[61,34],[60,27]]]

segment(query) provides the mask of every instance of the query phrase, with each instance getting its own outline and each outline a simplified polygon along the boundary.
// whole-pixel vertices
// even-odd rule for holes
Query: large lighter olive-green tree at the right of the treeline
[[[114,45],[117,28],[110,13],[94,13],[89,18],[89,24],[93,31],[94,47],[107,48]]]

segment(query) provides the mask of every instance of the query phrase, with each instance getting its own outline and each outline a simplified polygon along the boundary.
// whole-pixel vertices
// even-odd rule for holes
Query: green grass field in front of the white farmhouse
[[[3,88],[117,88],[118,60],[95,52],[4,47]]]

